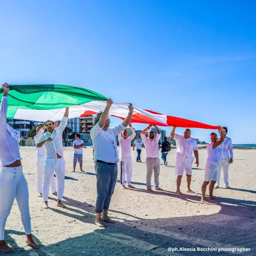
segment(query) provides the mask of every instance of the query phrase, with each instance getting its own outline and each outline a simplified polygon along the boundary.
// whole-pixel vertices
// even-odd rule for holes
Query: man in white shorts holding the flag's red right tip
[[[202,202],[210,202],[208,199],[206,199],[206,188],[208,184],[209,186],[209,199],[216,199],[213,196],[213,188],[215,185],[215,182],[218,178],[218,164],[219,160],[221,158],[221,150],[219,148],[219,145],[223,143],[224,141],[224,131],[223,127],[219,127],[219,133],[220,133],[220,139],[218,140],[218,136],[216,133],[211,133],[210,138],[211,142],[207,146],[207,154],[208,158],[206,160],[206,166],[205,166],[205,172],[204,172],[204,182],[202,185]]]

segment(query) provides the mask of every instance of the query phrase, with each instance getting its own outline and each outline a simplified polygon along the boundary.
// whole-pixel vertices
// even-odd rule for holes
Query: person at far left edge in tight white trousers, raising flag
[[[28,187],[22,172],[22,158],[18,144],[20,133],[6,123],[7,95],[10,89],[7,83],[2,84],[2,87],[4,95],[0,108],[0,159],[2,162],[2,170],[0,172],[0,251],[12,253],[14,250],[5,243],[4,230],[14,198],[21,212],[22,224],[27,235],[26,243],[30,244],[34,249],[38,249],[39,246],[31,235]]]

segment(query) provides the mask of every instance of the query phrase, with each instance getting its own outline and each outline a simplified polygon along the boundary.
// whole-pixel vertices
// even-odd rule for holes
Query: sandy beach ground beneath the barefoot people
[[[191,188],[196,194],[186,193],[186,180],[181,191],[176,191],[174,173],[175,150],[167,155],[168,166],[161,165],[160,187],[163,192],[146,192],[145,151],[142,163],[135,161],[132,151],[133,185],[136,189],[123,190],[118,166],[118,180],[110,205],[110,216],[118,222],[106,229],[94,225],[96,176],[92,147],[84,148],[85,173],[73,170],[73,149],[65,148],[66,180],[64,204],[56,206],[56,197],[50,195],[49,209],[43,210],[42,198],[36,191],[36,149],[21,147],[23,172],[30,191],[32,233],[42,244],[33,250],[25,245],[24,229],[15,201],[7,220],[6,242],[16,250],[13,255],[230,255],[231,252],[169,252],[169,247],[197,250],[213,248],[250,248],[240,255],[256,255],[256,158],[255,150],[234,150],[227,190],[214,190],[219,199],[212,204],[200,202],[204,178],[206,149],[199,149],[200,164],[194,166]],[[162,160],[161,160],[162,163]],[[152,181],[154,182],[153,178]],[[154,185],[154,183],[153,183]],[[154,189],[154,187],[153,187]],[[1,253],[0,253],[1,255]]]

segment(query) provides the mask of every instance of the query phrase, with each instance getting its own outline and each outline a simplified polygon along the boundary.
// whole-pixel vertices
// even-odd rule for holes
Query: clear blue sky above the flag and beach
[[[0,77],[85,87],[227,126],[233,143],[256,143],[255,7],[236,0],[2,0]],[[210,132],[192,129],[192,137],[209,142]]]

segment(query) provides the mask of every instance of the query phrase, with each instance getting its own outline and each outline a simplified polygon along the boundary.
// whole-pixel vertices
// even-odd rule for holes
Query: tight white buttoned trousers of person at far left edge
[[[28,204],[27,181],[22,172],[22,166],[2,167],[0,172],[0,240],[4,240],[4,230],[7,217],[17,201],[21,213],[21,221],[26,235],[31,234],[31,221]]]

